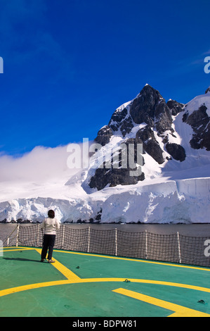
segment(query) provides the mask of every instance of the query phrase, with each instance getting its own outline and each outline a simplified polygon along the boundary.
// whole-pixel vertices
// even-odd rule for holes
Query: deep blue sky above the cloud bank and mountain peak
[[[187,103],[210,85],[209,0],[1,0],[0,153],[94,139],[146,83]]]

